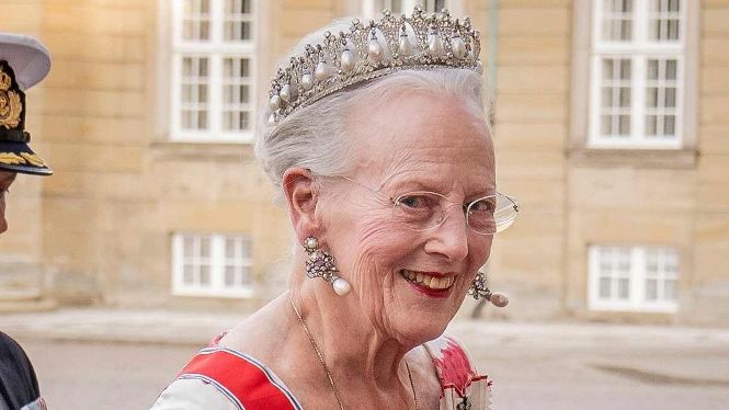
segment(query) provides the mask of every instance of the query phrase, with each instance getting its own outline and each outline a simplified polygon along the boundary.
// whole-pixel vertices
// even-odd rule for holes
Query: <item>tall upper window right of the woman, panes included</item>
[[[594,0],[589,146],[681,148],[684,0]]]

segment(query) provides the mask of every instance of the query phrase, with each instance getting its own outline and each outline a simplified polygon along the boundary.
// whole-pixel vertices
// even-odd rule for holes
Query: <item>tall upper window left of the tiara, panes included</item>
[[[175,0],[172,7],[171,138],[251,140],[253,0]]]

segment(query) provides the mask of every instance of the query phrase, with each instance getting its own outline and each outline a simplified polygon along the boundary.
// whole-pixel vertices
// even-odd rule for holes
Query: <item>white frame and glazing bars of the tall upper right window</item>
[[[637,149],[680,149],[683,147],[684,104],[685,104],[685,44],[687,31],[688,1],[680,4],[679,39],[675,42],[653,42],[649,39],[648,13],[650,0],[633,0],[633,41],[602,41],[603,2],[592,4],[592,46],[590,61],[590,119],[588,130],[589,148],[637,148]],[[623,138],[602,137],[601,129],[601,62],[603,57],[630,59],[630,135]],[[646,65],[648,59],[676,59],[676,106],[674,138],[647,137],[646,129]]]

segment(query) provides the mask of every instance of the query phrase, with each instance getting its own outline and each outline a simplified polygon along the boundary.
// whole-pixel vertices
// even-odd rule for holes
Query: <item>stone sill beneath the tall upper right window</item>
[[[569,162],[583,168],[693,169],[699,152],[695,149],[603,149],[572,148],[566,152]]]

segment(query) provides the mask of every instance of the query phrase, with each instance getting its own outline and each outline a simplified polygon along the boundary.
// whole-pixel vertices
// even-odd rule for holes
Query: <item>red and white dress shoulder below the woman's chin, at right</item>
[[[425,350],[433,358],[435,372],[444,390],[453,388],[458,396],[464,396],[471,383],[487,378],[478,374],[466,350],[449,335],[442,335],[425,343]]]

